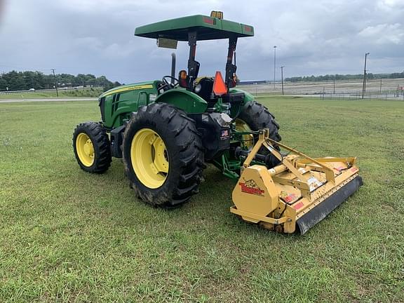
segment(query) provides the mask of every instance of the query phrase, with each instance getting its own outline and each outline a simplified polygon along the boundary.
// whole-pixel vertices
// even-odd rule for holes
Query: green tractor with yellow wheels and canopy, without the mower
[[[253,95],[235,88],[237,39],[254,36],[252,26],[213,12],[137,27],[135,36],[156,39],[166,48],[188,41],[187,70],[176,77],[173,55],[169,76],[100,95],[102,122],[81,123],[74,130],[74,154],[83,170],[105,173],[112,156],[121,158],[137,197],[170,208],[198,193],[206,163],[238,180],[258,130],[267,128],[271,140],[281,140],[274,115]],[[220,72],[198,76],[196,42],[215,39],[229,41],[224,79]],[[265,148],[255,161],[267,168],[280,162]]]

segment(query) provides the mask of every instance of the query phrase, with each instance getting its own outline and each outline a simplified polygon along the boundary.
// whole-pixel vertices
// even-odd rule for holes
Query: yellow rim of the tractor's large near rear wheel
[[[139,130],[130,144],[130,161],[137,179],[151,189],[161,187],[168,175],[168,152],[161,137],[150,128]]]

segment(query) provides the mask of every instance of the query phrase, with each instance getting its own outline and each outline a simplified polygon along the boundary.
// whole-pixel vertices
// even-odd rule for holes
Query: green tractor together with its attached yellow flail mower
[[[361,186],[355,158],[312,159],[281,144],[274,114],[236,88],[236,44],[254,36],[252,26],[213,11],[137,27],[135,36],[163,48],[187,41],[187,70],[175,78],[172,54],[170,76],[100,95],[102,121],[80,123],[73,133],[81,169],[105,173],[112,157],[120,158],[135,196],[176,208],[198,193],[210,163],[237,182],[231,213],[301,234]],[[229,41],[224,77],[199,76],[196,43],[215,39]]]

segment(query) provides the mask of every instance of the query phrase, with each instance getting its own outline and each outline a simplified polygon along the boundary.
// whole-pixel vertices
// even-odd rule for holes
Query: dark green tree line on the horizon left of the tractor
[[[43,74],[42,72],[8,72],[0,75],[0,90],[35,90],[74,87],[102,86],[109,90],[120,86],[117,81],[109,81],[105,76],[96,77],[93,74]]]

